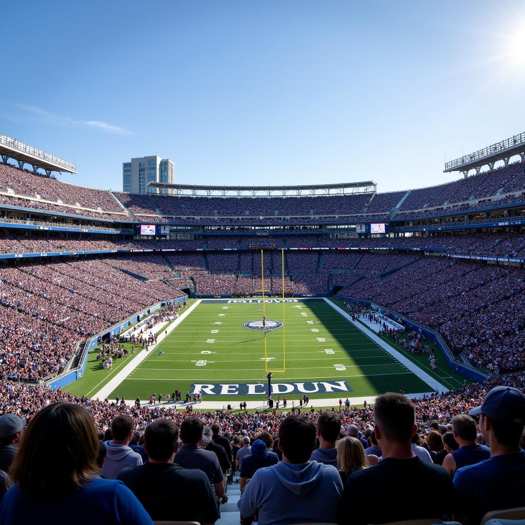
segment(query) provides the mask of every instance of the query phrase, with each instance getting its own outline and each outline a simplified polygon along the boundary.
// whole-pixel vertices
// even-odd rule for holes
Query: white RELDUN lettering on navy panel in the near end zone
[[[266,383],[194,383],[192,394],[202,390],[205,395],[268,395]],[[314,381],[304,383],[272,383],[271,394],[330,394],[352,392],[346,381]]]

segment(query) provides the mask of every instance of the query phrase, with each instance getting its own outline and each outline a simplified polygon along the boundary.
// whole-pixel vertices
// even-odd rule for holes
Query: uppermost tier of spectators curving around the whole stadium
[[[521,163],[514,163],[447,184],[411,190],[396,218],[426,217],[521,202],[523,194],[520,194],[520,190],[525,186],[524,172]],[[406,191],[313,197],[112,194],[68,184],[3,163],[0,163],[0,192],[3,192],[0,194],[0,203],[13,206],[111,220],[132,220],[133,215],[124,212],[122,204],[137,220],[145,223],[169,222],[172,218],[198,223],[201,217],[206,218],[207,222],[220,220],[248,223],[264,217],[265,222],[316,223],[337,220],[341,216],[379,222],[387,219],[407,194]],[[500,194],[505,196],[498,197]],[[426,208],[430,209],[427,211]],[[341,210],[344,210],[344,214]]]

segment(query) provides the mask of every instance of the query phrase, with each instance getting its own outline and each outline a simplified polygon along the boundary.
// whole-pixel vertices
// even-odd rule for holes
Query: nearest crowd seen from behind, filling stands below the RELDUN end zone
[[[478,525],[487,511],[522,502],[524,381],[512,374],[506,386],[493,377],[422,400],[387,393],[374,406],[343,409],[340,401],[339,409],[293,408],[291,414],[187,414],[177,410],[175,393],[172,401],[166,395],[166,403],[146,408],[140,400],[90,400],[2,382],[0,467],[9,482],[0,491],[0,523],[23,523],[28,513],[51,510],[59,490],[57,522],[86,499],[89,510],[79,523],[93,516],[118,522],[118,515],[148,525],[152,519],[211,524],[218,504],[227,501],[230,471],[238,468],[245,525],[257,514],[266,525],[411,518]],[[479,422],[467,413],[479,414]],[[46,454],[55,458],[54,469],[45,468]],[[75,468],[87,478],[70,475]],[[490,478],[500,486],[487,486]],[[16,485],[7,491],[11,481]],[[421,486],[437,497],[395,505]],[[188,505],[173,505],[172,488],[182,487]],[[374,506],[378,491],[384,505]]]

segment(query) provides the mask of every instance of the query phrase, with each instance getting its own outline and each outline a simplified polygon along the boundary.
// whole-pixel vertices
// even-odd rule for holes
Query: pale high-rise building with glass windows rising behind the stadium
[[[149,182],[173,184],[175,165],[170,159],[157,155],[138,157],[131,162],[122,163],[122,191],[128,193],[148,193]],[[169,193],[164,188],[152,188],[153,193]]]

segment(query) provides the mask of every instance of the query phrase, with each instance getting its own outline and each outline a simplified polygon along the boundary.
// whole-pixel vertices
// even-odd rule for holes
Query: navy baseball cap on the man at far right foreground
[[[525,424],[525,394],[511,386],[495,386],[481,406],[472,408],[470,416],[483,414],[502,423]]]

